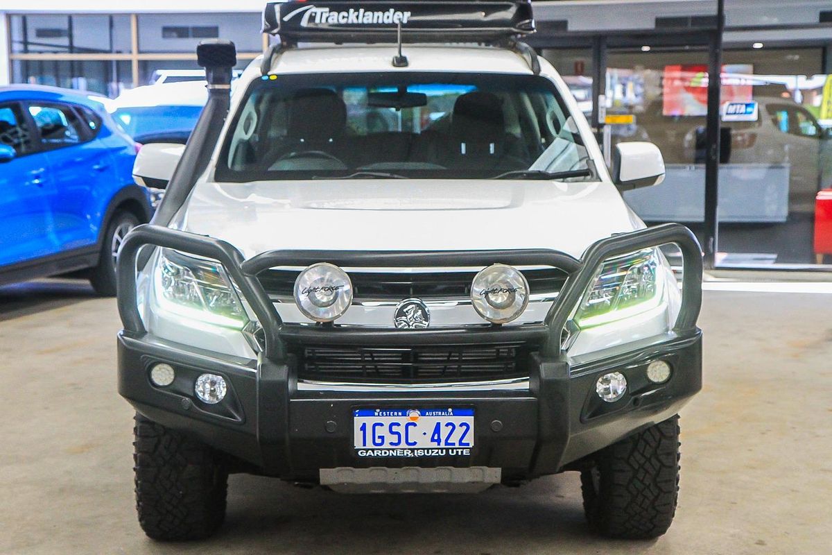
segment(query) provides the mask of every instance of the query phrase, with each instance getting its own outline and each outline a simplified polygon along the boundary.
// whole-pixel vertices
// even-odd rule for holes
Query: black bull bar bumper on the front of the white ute
[[[633,346],[570,367],[560,352],[561,332],[570,307],[586,290],[597,265],[611,256],[669,242],[680,245],[685,259],[685,295],[674,332],[661,343]],[[136,255],[146,244],[207,256],[225,265],[264,327],[265,349],[256,363],[198,351],[147,334],[136,310],[133,270]],[[445,255],[424,255],[421,261],[433,265]],[[511,264],[537,255],[540,253],[515,251],[503,253],[499,260]],[[119,393],[147,418],[192,434],[245,461],[257,472],[284,479],[317,482],[320,470],[326,468],[418,466],[500,468],[502,480],[513,482],[560,472],[628,434],[670,418],[701,389],[701,332],[696,329],[701,305],[701,253],[690,232],[679,225],[599,241],[587,250],[582,263],[572,261],[571,277],[545,325],[511,331],[496,326],[477,330],[348,331],[331,326],[283,325],[255,275],[287,256],[303,259],[298,253],[272,253],[244,262],[239,252],[221,241],[154,226],[134,231],[122,247],[119,260],[119,309],[125,325],[118,338]],[[332,260],[336,255],[305,256],[317,261]],[[360,258],[361,254],[356,256]],[[388,260],[376,260],[375,264],[396,265],[396,260],[390,259],[397,256],[381,255]],[[474,265],[479,259],[493,260],[492,256],[471,253],[468,259],[476,259],[472,260]],[[564,255],[550,256],[558,263],[567,261]],[[401,255],[399,262],[414,265],[414,254]],[[527,384],[522,387],[310,389],[299,387],[296,364],[285,354],[285,342],[466,344],[503,334],[537,335],[542,339],[540,351],[532,355]],[[671,364],[671,379],[665,384],[652,384],[646,378],[647,364],[656,359]],[[176,369],[175,387],[159,388],[151,383],[150,369],[161,362]],[[625,374],[629,385],[623,399],[607,404],[596,394],[596,381],[612,371]],[[228,394],[220,404],[202,404],[193,396],[192,384],[203,373],[220,374],[228,383]],[[362,457],[353,448],[354,409],[459,406],[474,409],[474,446],[468,455]]]

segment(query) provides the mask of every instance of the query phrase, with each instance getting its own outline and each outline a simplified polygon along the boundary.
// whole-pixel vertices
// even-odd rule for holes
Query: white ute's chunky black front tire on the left
[[[136,414],[136,510],[141,529],[162,541],[196,540],[225,520],[228,472],[205,444]]]

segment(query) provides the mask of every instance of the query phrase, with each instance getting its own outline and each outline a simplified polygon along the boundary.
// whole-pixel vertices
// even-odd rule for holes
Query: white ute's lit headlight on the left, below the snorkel
[[[245,326],[240,298],[218,262],[165,249],[154,277],[156,299],[168,312],[237,330]]]

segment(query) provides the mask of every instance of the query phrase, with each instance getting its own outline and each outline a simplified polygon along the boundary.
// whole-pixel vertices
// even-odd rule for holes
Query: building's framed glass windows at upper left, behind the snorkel
[[[258,13],[13,14],[8,28],[12,82],[108,97],[166,70],[198,72],[196,45],[206,38],[234,41],[238,69],[264,47]]]

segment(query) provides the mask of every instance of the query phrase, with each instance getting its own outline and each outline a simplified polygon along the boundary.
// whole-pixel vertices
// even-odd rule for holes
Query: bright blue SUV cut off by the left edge
[[[0,285],[86,269],[99,294],[116,294],[118,247],[151,203],[132,178],[136,143],[105,100],[0,87]]]

